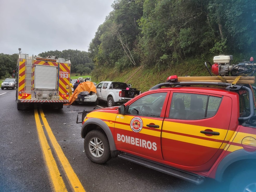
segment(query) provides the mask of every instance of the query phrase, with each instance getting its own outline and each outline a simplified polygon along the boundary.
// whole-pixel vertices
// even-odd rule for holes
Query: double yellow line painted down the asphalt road
[[[52,150],[47,141],[44,130],[48,135],[50,143],[59,159],[61,167],[62,167],[63,171],[65,172],[65,176],[67,177],[69,184],[71,185],[71,188],[73,189],[73,191],[85,191],[84,187],[82,186],[81,182],[79,181],[78,177],[76,176],[74,170],[72,169],[70,163],[68,162],[68,159],[66,158],[63,151],[61,150],[61,147],[58,144],[56,138],[54,137],[53,132],[52,132],[46,118],[44,117],[44,113],[43,113],[42,109],[40,108],[40,115],[41,115],[41,119],[43,121],[44,129],[43,129],[43,125],[41,123],[39,113],[38,113],[36,107],[35,107],[34,112],[35,112],[35,121],[36,121],[38,137],[40,140],[42,152],[44,155],[46,165],[48,167],[49,177],[52,182],[54,191],[67,191],[67,188],[62,179],[60,171],[57,167],[57,163],[53,157],[53,153],[52,153]]]

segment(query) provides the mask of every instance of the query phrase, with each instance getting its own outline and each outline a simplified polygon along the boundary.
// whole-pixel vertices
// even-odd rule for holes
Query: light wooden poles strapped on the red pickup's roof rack
[[[236,76],[223,76],[225,80],[228,81],[228,83],[233,83]],[[221,81],[217,76],[197,76],[197,77],[178,77],[179,82],[195,82],[195,81],[203,81],[203,82],[223,82]],[[255,76],[249,77],[249,76],[242,76],[238,84],[254,84],[255,83]]]

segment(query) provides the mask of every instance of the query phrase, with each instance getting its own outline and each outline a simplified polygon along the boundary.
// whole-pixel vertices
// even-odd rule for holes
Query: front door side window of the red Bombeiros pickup
[[[167,93],[152,93],[129,105],[128,114],[160,117]]]

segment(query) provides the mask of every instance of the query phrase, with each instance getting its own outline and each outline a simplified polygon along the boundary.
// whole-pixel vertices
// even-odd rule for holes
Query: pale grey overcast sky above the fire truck
[[[0,53],[87,51],[114,0],[0,0]]]

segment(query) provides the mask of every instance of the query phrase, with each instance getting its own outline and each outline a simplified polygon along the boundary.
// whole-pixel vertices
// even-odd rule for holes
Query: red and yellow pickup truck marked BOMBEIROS
[[[208,177],[229,183],[229,191],[255,191],[256,87],[198,78],[170,76],[124,105],[80,112],[87,157],[99,164],[119,157],[195,184]]]

